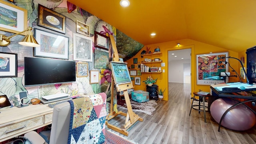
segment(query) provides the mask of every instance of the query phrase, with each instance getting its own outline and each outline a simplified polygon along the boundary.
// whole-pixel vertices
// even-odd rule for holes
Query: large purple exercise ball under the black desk
[[[237,103],[237,101],[231,98],[219,98],[215,100],[210,106],[212,117],[216,122],[220,123],[220,118],[224,112]],[[226,116],[224,116],[221,126],[237,131],[248,130],[254,126],[255,120],[254,112],[243,104],[240,104],[232,108]]]

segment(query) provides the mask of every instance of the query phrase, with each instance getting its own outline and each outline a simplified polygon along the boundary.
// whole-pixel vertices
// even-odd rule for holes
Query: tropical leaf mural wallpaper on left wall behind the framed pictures
[[[71,95],[83,94],[83,93],[100,93],[105,92],[108,96],[107,101],[110,102],[110,84],[111,84],[111,71],[108,69],[108,58],[112,56],[112,45],[107,42],[108,46],[103,48],[94,46],[95,43],[95,32],[98,32],[100,36],[113,35],[116,39],[116,28],[111,26],[107,22],[104,22],[97,16],[82,10],[81,8],[67,2],[66,0],[60,1],[48,1],[48,0],[33,0],[32,2],[13,0],[10,2],[4,0],[10,4],[15,4],[21,8],[24,8],[28,12],[28,26],[31,26],[33,30],[39,29],[45,32],[53,33],[60,36],[65,36],[69,38],[69,48],[68,48],[68,60],[74,60],[74,35],[79,35],[84,39],[92,40],[92,61],[82,61],[87,62],[86,66],[88,71],[83,73],[79,72],[79,77],[76,78],[76,82],[69,84],[55,84],[55,85],[43,85],[43,86],[31,86],[24,87],[24,57],[33,57],[33,48],[22,46],[18,44],[24,36],[17,35],[11,39],[11,43],[8,46],[0,46],[0,52],[9,52],[18,54],[18,76],[17,77],[0,77],[0,95],[7,95],[8,98],[13,102],[14,105],[18,105],[18,98],[20,92],[27,92],[29,98],[41,98],[45,95],[55,94],[55,93],[68,93]],[[38,5],[45,6],[54,12],[66,16],[66,32],[58,32],[54,29],[49,29],[47,26],[38,26]],[[1,8],[0,8],[1,9]],[[1,10],[4,13],[4,10]],[[13,20],[8,16],[4,17],[4,14],[0,15],[1,20]],[[53,19],[54,20],[54,19]],[[8,21],[8,20],[7,20]],[[77,21],[81,26],[85,26],[85,29],[78,29],[77,31]],[[0,21],[1,22],[1,21]],[[3,22],[3,21],[2,21]],[[1,23],[2,23],[1,22]],[[89,28],[88,28],[89,27]],[[13,33],[8,32],[8,30],[0,31],[0,34],[6,36],[12,36]],[[136,45],[138,42],[136,42]],[[98,43],[97,43],[98,44]],[[140,45],[140,49],[142,46]],[[138,51],[138,48],[137,48]],[[81,53],[79,53],[81,54]],[[88,52],[82,53],[84,55]],[[95,55],[97,54],[97,55]],[[95,59],[95,60],[94,60]],[[78,60],[75,60],[78,62]],[[107,61],[107,62],[106,62]],[[100,72],[99,83],[90,84],[90,71],[98,70]],[[86,74],[87,73],[87,74]],[[81,76],[86,75],[86,77]],[[114,90],[116,93],[116,90]],[[116,96],[116,94],[114,94]],[[114,104],[116,104],[116,98],[114,98]],[[107,105],[109,106],[109,105]]]

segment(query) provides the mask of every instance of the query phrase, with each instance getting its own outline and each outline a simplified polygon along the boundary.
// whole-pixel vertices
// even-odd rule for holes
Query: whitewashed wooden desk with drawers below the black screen
[[[92,94],[82,94],[81,97]],[[37,104],[0,109],[0,142],[52,124],[53,108]]]

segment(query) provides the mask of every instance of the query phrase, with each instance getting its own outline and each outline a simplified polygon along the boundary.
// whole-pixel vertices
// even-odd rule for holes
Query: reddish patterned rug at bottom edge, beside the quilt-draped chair
[[[125,139],[113,132],[106,130],[106,140],[104,144],[137,144],[133,140]]]

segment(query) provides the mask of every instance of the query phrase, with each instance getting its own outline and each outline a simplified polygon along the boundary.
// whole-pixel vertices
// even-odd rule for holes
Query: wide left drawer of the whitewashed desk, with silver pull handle
[[[12,136],[25,130],[29,130],[31,128],[35,128],[42,124],[44,124],[44,116],[39,116],[37,118],[32,118],[30,120],[19,122],[17,124],[2,127],[0,128],[0,139],[5,138],[7,136]]]

